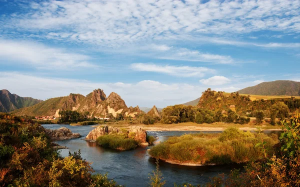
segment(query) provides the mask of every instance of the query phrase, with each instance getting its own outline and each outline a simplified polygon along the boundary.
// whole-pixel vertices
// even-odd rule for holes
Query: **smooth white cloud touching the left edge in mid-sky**
[[[88,62],[90,57],[87,55],[67,52],[65,49],[47,47],[29,41],[0,40],[0,58],[10,62],[28,64],[39,69],[70,70],[96,66]]]

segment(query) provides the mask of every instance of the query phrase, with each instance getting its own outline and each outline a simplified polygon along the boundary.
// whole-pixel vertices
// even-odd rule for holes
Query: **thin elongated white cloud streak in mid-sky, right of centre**
[[[153,63],[132,63],[130,67],[136,71],[148,71],[170,74],[181,77],[202,77],[206,73],[214,73],[214,69],[195,66],[156,65]]]

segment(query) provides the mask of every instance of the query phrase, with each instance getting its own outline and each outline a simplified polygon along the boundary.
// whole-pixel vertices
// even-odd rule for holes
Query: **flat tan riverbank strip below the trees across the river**
[[[129,128],[132,124],[109,124],[114,127]],[[95,127],[98,125],[94,125]],[[254,123],[249,124],[235,124],[235,123],[193,123],[193,122],[183,122],[176,124],[163,124],[163,123],[154,123],[154,124],[139,124],[138,126],[144,128],[146,131],[223,131],[227,127],[237,127],[240,130],[257,130],[259,127],[261,130],[282,130],[279,125],[270,125],[268,123],[262,123],[260,125],[255,125]]]

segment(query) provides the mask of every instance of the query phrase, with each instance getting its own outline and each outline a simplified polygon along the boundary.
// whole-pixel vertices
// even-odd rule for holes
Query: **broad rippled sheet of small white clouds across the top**
[[[29,6],[26,14],[5,17],[2,27],[103,46],[176,39],[183,33],[300,32],[299,0],[53,0]]]

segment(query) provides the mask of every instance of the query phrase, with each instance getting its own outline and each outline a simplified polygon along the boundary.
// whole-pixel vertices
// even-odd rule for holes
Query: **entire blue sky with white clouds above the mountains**
[[[300,80],[300,0],[0,0],[0,89],[165,107]]]

